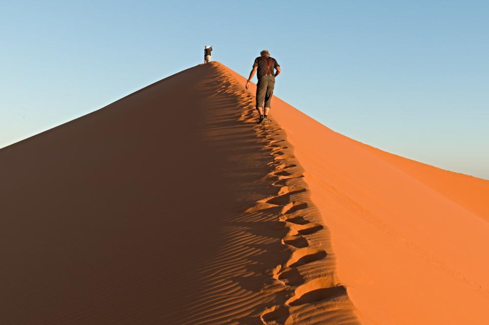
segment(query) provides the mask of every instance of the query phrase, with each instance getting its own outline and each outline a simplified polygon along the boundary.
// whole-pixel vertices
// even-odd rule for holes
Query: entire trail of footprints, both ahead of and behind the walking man
[[[225,82],[231,83],[231,77],[226,78]],[[222,91],[229,92],[229,87],[223,86]],[[245,105],[239,120],[250,124],[256,123],[254,97],[245,91],[232,92],[239,102]],[[324,245],[317,242],[321,236],[314,238],[314,235],[323,229],[323,225],[308,219],[307,202],[292,200],[295,194],[306,192],[308,189],[305,187],[306,183],[301,180],[303,173],[297,171],[300,168],[296,168],[295,157],[288,148],[288,143],[280,140],[283,131],[274,122],[256,125],[255,131],[264,149],[268,150],[272,156],[269,165],[273,167],[273,171],[266,177],[270,179],[273,186],[277,187],[278,191],[274,196],[259,200],[246,212],[276,209],[277,223],[285,224],[288,229],[287,234],[282,238],[282,244],[290,250],[289,259],[274,267],[270,274],[276,282],[273,290],[277,290],[278,284],[278,290],[286,292],[285,301],[282,305],[274,305],[263,310],[260,320],[265,325],[283,325],[289,319],[291,308],[345,295],[346,289],[344,286],[335,284],[332,276],[311,278],[309,274],[303,274],[306,266],[321,261],[328,255],[321,248]],[[290,319],[287,324],[292,324]]]

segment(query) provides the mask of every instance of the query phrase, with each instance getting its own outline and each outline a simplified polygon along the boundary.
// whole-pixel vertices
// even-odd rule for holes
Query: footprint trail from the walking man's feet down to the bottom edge
[[[327,256],[326,251],[321,248],[311,247],[312,235],[323,229],[318,223],[311,222],[307,218],[308,203],[292,201],[294,194],[306,192],[307,188],[301,184],[291,182],[294,179],[303,177],[302,172],[295,172],[296,164],[290,161],[294,156],[287,152],[287,146],[284,142],[276,141],[274,136],[279,129],[276,126],[257,127],[257,134],[264,138],[264,146],[271,148],[271,155],[274,170],[267,175],[278,187],[277,195],[264,198],[250,208],[249,211],[269,209],[278,207],[278,222],[285,223],[289,229],[286,236],[282,239],[282,244],[290,247],[291,253],[289,260],[284,264],[277,265],[271,276],[273,279],[284,285],[284,290],[293,294],[283,305],[275,305],[264,310],[261,314],[263,324],[284,324],[289,318],[290,306],[303,305],[318,302],[331,297],[328,290],[336,288],[330,279],[313,279],[306,282],[305,277],[301,274],[300,266],[310,264],[315,261],[324,259]],[[326,291],[325,291],[326,290]]]

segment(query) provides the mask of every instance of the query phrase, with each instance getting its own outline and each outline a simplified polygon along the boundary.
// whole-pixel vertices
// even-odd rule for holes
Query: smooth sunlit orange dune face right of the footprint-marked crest
[[[271,116],[305,168],[362,323],[488,323],[489,181],[356,142],[278,98]]]

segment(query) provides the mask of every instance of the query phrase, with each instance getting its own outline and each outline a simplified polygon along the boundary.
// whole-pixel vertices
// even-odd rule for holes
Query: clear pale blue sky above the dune
[[[380,149],[489,179],[488,1],[10,1],[0,147],[213,60],[263,48],[275,94]],[[314,141],[314,139],[311,139]]]

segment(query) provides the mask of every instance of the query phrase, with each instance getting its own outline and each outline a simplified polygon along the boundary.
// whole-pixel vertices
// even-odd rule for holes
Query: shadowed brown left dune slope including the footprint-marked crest
[[[357,324],[285,131],[199,65],[0,150],[0,324]]]

